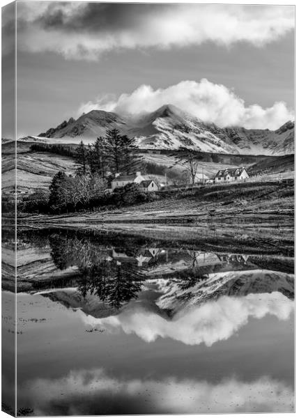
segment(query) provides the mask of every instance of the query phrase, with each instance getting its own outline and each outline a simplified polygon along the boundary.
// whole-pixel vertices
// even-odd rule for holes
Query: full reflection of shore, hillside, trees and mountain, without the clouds
[[[173,316],[224,295],[277,291],[293,299],[290,258],[215,254],[70,231],[25,232],[18,247],[20,290],[42,291],[98,318],[117,314],[132,300]]]

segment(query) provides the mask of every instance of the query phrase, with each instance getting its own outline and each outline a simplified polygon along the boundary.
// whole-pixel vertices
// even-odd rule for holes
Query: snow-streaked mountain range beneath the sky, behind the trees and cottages
[[[77,119],[70,118],[38,135],[42,139],[94,141],[116,128],[134,137],[141,149],[177,149],[180,147],[206,153],[245,155],[288,155],[294,153],[294,123],[289,121],[277,130],[217,127],[204,123],[171,104],[139,116],[121,116],[92,110]]]

